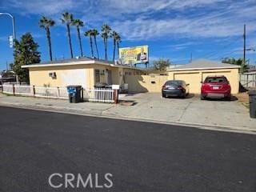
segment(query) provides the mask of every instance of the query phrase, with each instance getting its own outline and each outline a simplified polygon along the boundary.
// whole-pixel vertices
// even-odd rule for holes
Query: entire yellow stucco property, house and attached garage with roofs
[[[30,85],[34,86],[81,85],[92,88],[98,82],[105,82],[120,85],[121,90],[128,85],[130,92],[160,93],[167,80],[184,80],[190,83],[190,93],[200,94],[201,82],[206,76],[225,75],[230,81],[232,94],[237,94],[239,88],[239,66],[209,60],[171,66],[161,73],[93,58],[40,63],[22,68],[29,69]]]

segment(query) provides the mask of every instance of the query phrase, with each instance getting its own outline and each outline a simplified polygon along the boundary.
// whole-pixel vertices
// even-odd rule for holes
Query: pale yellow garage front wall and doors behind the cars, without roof
[[[201,82],[210,75],[225,75],[226,78],[230,81],[231,93],[238,94],[238,69],[169,71],[170,80],[184,80],[185,82],[190,83],[190,93],[193,94],[200,94]]]

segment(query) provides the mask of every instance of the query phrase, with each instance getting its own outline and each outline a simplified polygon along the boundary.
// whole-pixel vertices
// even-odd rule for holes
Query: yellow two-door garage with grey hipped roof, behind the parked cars
[[[238,94],[240,66],[210,60],[196,60],[168,69],[170,80],[183,80],[190,84],[190,93],[200,94],[201,82],[207,76],[224,75],[230,82],[231,93]]]

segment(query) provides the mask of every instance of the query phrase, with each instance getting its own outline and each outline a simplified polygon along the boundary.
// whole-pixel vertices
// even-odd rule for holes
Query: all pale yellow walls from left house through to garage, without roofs
[[[190,83],[190,93],[199,94],[201,83],[208,75],[225,75],[230,81],[232,94],[238,93],[238,69],[222,70],[182,70],[168,71],[168,75],[146,74],[143,70],[122,68],[117,66],[70,65],[70,66],[44,66],[32,67],[30,70],[30,85],[34,86],[68,86],[81,85],[94,87],[95,70],[104,71],[100,75],[100,82],[108,82],[111,71],[112,84],[122,87],[128,83],[130,92],[161,92],[162,85],[167,80],[184,80]],[[49,77],[49,73],[56,73],[56,78]]]

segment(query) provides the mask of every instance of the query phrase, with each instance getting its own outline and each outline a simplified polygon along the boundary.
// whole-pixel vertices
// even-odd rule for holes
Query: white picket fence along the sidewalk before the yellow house
[[[1,90],[1,89],[0,89]],[[2,85],[5,94],[31,96],[38,98],[69,98],[66,87]],[[84,101],[89,102],[114,102],[114,90],[105,88],[82,89]]]

